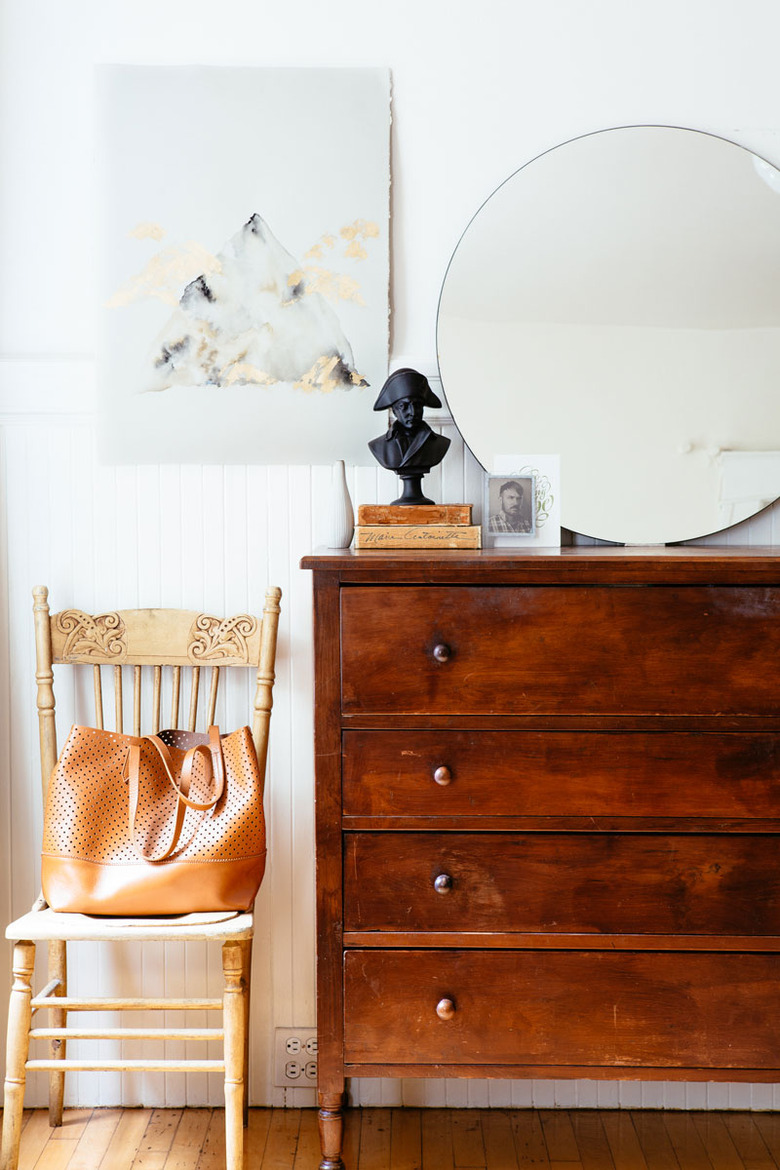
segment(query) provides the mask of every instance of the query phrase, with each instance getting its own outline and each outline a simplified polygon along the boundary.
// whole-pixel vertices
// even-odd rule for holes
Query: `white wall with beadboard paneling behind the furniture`
[[[55,604],[257,607],[284,590],[271,731],[272,861],[258,903],[255,1102],[275,1026],[313,1023],[310,583],[323,467],[117,467],[96,457],[91,183],[94,62],[389,66],[393,71],[393,364],[435,371],[435,312],[457,239],[490,191],[539,151],[629,123],[709,130],[780,164],[769,0],[5,0],[0,7],[0,910],[35,893],[40,817],[29,591]],[[451,427],[448,432],[453,433]],[[333,457],[339,457],[334,441]],[[444,500],[479,496],[462,446],[432,477]],[[352,472],[360,502],[385,473]],[[730,539],[780,543],[778,510]],[[209,544],[218,534],[218,555]],[[144,980],[214,992],[203,954],[146,948]],[[6,966],[7,970],[7,966]],[[120,987],[122,954],[75,965]],[[0,1024],[5,1013],[0,977]],[[779,1106],[771,1087],[592,1082],[371,1082],[365,1103]],[[198,1076],[82,1074],[71,1100],[199,1103]],[[41,1086],[30,1100],[42,1100]],[[288,1103],[309,1103],[292,1090]]]

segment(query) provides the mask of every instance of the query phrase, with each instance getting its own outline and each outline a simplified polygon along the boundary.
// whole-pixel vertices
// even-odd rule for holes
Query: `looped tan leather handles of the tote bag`
[[[157,855],[145,853],[143,847],[138,844],[136,837],[136,820],[138,818],[138,804],[140,799],[140,749],[143,743],[150,743],[158,752],[160,759],[163,760],[163,766],[165,768],[165,775],[168,778],[168,783],[177,793],[177,814],[171,831],[171,839],[164,851]],[[201,755],[203,757],[208,783],[210,784],[214,782],[212,797],[206,801],[193,800],[189,797],[189,785],[192,783],[196,755]],[[173,758],[168,751],[167,744],[165,744],[163,739],[156,735],[144,736],[134,743],[131,743],[125,759],[123,778],[129,784],[130,838],[136,853],[143,858],[144,861],[165,861],[166,858],[171,856],[179,844],[186,810],[195,808],[198,812],[208,812],[209,808],[214,807],[225,791],[225,757],[222,755],[220,729],[218,727],[210,727],[208,729],[208,746],[206,744],[195,744],[195,746],[191,748],[185,755],[179,784],[177,784],[175,776],[173,775]]]

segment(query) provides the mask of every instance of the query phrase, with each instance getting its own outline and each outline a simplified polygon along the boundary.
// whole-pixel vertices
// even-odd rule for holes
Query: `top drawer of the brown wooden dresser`
[[[341,590],[347,715],[776,715],[780,589]]]

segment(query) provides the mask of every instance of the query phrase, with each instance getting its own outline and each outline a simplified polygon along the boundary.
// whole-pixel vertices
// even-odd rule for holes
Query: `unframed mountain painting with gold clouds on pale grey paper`
[[[103,459],[370,463],[387,71],[105,66],[97,88]]]

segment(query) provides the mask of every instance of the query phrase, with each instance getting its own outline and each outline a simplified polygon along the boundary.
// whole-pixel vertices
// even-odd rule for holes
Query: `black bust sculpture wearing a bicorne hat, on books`
[[[416,370],[395,370],[374,402],[375,411],[388,407],[395,421],[385,435],[368,443],[371,454],[381,467],[395,472],[403,483],[403,493],[394,504],[432,504],[423,496],[420,481],[432,467],[441,463],[450,440],[437,435],[422,418],[426,406],[442,404],[428,385],[424,374]]]

